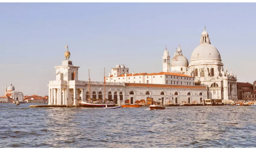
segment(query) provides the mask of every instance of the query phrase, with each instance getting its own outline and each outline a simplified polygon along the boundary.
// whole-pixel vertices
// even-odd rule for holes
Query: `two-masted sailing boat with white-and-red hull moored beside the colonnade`
[[[105,99],[105,68],[104,68],[104,101],[100,99],[91,100],[91,79],[90,79],[90,70],[89,72],[89,98],[86,101],[80,101],[80,107],[114,107],[115,103],[108,103]],[[92,102],[91,102],[92,101]]]

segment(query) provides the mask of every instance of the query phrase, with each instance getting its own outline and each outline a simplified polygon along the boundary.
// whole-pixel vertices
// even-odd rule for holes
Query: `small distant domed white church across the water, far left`
[[[0,100],[6,101],[6,97],[8,99],[8,103],[11,103],[11,99],[13,99],[14,101],[20,101],[23,102],[23,93],[20,91],[15,91],[14,85],[12,85],[12,83],[10,84],[10,86],[6,86],[5,85],[5,96],[2,96],[0,98]]]

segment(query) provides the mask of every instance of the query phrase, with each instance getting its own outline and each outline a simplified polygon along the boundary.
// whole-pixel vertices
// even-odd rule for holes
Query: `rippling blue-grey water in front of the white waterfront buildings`
[[[0,104],[0,147],[256,147],[256,105],[29,108]]]

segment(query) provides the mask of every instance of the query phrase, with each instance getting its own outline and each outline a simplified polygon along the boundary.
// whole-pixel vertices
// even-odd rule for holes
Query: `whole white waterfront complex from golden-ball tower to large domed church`
[[[67,47],[66,47],[67,48]],[[89,82],[78,79],[80,67],[70,61],[70,52],[55,67],[56,80],[49,81],[49,105],[75,105],[76,101],[91,99],[115,100],[116,104],[161,101],[162,104],[200,104],[205,99],[237,100],[236,75],[223,70],[219,51],[211,45],[206,32],[194,49],[190,63],[181,46],[170,59],[167,48],[161,58],[163,71],[157,73],[129,73],[124,64],[111,69],[104,81]],[[91,90],[89,90],[89,88]],[[89,93],[90,92],[90,93]]]

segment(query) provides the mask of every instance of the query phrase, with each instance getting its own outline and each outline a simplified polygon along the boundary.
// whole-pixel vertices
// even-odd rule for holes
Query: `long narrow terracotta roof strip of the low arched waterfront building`
[[[155,88],[196,88],[196,89],[207,89],[206,86],[196,85],[168,85],[168,84],[143,84],[143,83],[125,83],[125,86],[135,87],[155,87]]]

